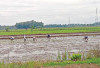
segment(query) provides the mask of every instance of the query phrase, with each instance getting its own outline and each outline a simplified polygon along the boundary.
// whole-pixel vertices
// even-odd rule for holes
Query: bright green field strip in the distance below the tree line
[[[42,29],[18,29],[0,30],[0,35],[23,35],[23,34],[54,34],[54,33],[79,33],[79,32],[100,32],[100,27],[73,27],[73,28],[42,28]]]

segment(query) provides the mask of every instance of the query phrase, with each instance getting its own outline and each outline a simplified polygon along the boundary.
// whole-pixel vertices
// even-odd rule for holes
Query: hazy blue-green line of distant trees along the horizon
[[[55,28],[55,27],[85,27],[85,26],[100,26],[100,22],[95,22],[93,24],[49,24],[44,25],[43,22],[37,22],[34,20],[26,21],[26,22],[19,22],[13,26],[1,26],[0,30],[9,31],[9,29],[34,29],[34,28]]]

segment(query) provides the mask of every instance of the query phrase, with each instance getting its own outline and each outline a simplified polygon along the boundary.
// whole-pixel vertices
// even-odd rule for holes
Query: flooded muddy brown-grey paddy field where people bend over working
[[[56,60],[58,51],[62,54],[66,49],[77,53],[100,47],[100,36],[89,36],[88,42],[83,38],[84,36],[37,38],[37,41],[27,39],[26,42],[23,39],[0,40],[0,61]]]

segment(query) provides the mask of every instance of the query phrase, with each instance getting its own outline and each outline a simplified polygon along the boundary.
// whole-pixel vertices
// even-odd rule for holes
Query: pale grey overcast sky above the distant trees
[[[0,25],[23,21],[44,24],[93,23],[100,0],[0,0]],[[100,18],[99,18],[100,19]]]

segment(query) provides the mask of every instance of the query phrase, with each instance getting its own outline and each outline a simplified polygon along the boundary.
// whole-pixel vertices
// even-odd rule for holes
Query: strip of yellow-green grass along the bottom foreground
[[[62,61],[62,62],[18,62],[4,64],[0,63],[0,68],[41,68],[41,67],[54,67],[54,66],[66,66],[71,64],[97,64],[100,65],[100,58],[87,59],[85,61]]]

